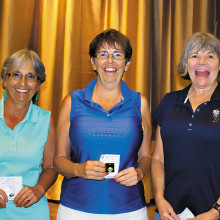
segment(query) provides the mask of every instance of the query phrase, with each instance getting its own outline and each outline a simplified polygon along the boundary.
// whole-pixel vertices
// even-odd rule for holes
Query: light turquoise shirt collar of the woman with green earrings
[[[4,120],[4,98],[0,101],[0,118]],[[36,123],[38,121],[38,111],[37,108],[34,108],[34,104],[30,103],[30,106],[28,108],[27,114],[25,115],[22,122],[30,121],[33,123]]]

